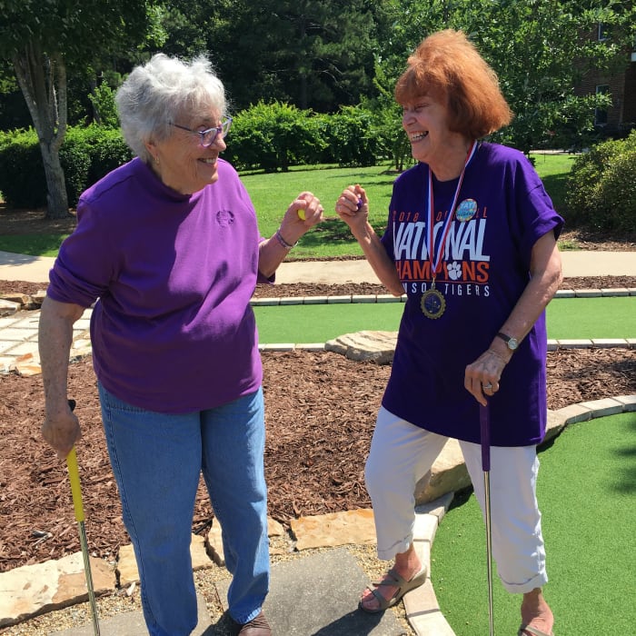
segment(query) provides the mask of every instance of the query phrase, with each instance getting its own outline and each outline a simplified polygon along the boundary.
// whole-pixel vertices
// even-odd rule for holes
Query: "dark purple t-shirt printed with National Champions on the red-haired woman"
[[[429,431],[479,443],[479,404],[464,388],[465,368],[489,347],[522,295],[532,246],[547,232],[558,236],[563,220],[522,153],[479,144],[466,167],[436,278],[445,311],[428,318],[421,307],[432,279],[426,248],[428,174],[426,164],[417,164],[396,179],[382,239],[408,294],[383,406]],[[438,241],[458,183],[433,178]],[[542,313],[489,401],[493,445],[541,442],[546,351]]]

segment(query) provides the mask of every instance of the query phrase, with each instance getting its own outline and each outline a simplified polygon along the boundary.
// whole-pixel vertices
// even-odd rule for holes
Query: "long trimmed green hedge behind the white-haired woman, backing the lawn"
[[[259,102],[237,113],[226,158],[237,170],[286,171],[293,165],[374,165],[392,156],[394,131],[362,106],[314,114],[293,105]],[[119,130],[70,127],[60,149],[68,204],[131,158]],[[0,192],[12,208],[46,205],[45,171],[33,129],[0,132]]]

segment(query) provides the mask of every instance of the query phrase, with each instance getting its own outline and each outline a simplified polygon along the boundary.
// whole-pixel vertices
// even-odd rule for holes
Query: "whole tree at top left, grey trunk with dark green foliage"
[[[67,73],[144,39],[146,0],[0,0],[0,58],[25,97],[45,166],[46,218],[68,214],[59,150],[67,124]]]

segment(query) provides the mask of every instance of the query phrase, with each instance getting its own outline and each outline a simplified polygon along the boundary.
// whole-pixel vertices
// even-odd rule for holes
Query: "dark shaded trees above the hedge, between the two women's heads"
[[[206,50],[236,110],[263,100],[335,112],[373,93],[371,6],[369,0],[176,0],[164,51]]]

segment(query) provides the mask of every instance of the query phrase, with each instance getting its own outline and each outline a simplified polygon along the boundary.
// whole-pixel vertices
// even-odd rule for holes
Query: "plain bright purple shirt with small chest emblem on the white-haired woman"
[[[220,159],[192,195],[138,158],[82,194],[48,295],[90,306],[94,371],[115,396],[157,412],[194,412],[262,383],[250,306],[261,240],[250,197]]]

